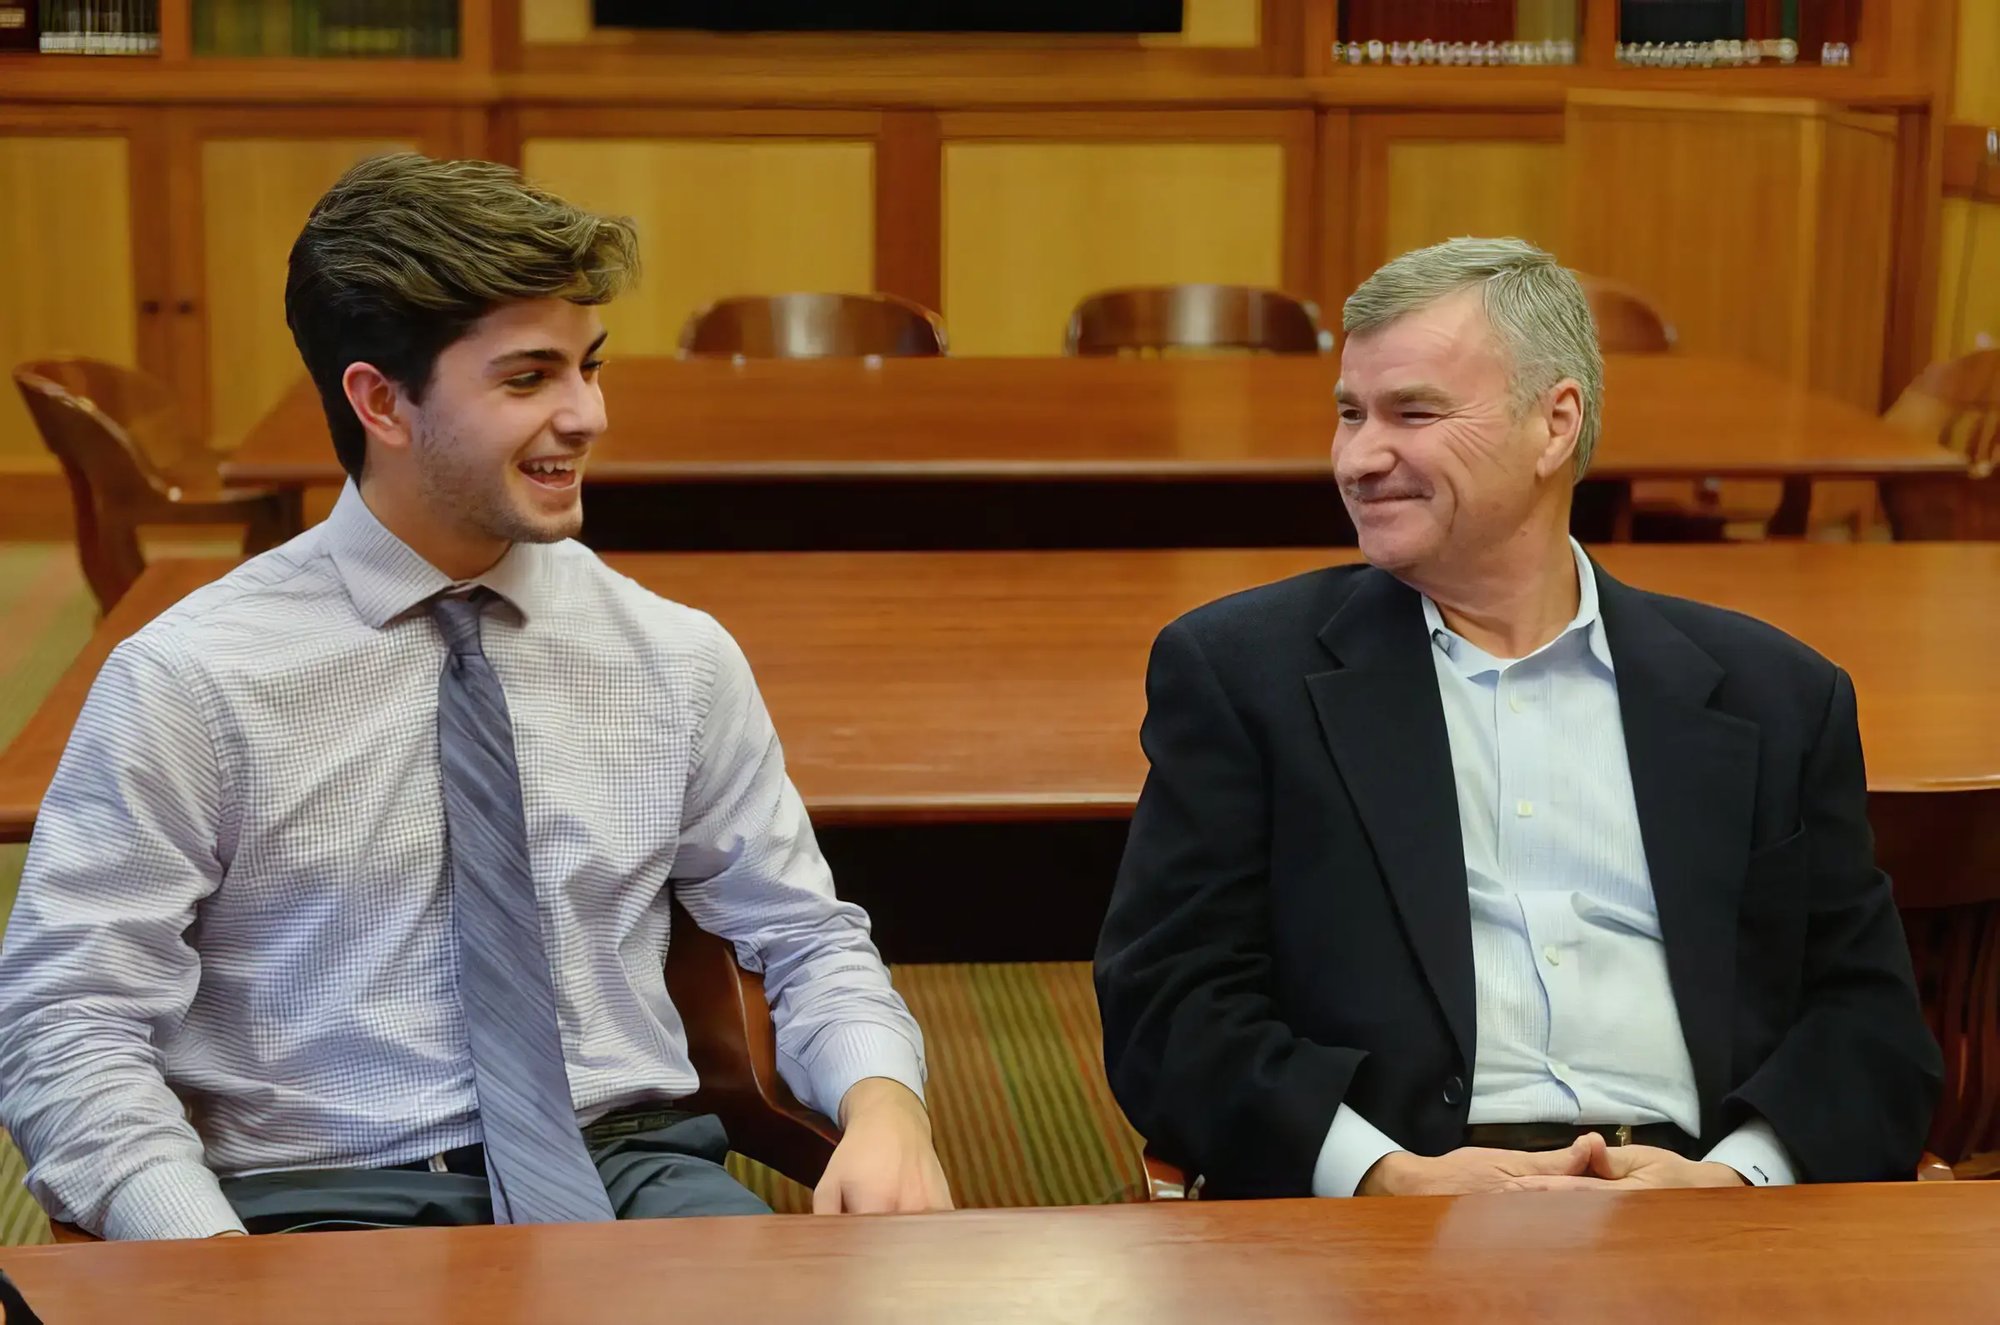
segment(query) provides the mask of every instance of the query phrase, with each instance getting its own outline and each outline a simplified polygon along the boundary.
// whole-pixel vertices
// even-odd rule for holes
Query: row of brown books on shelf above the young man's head
[[[448,60],[458,0],[196,0],[194,54]]]

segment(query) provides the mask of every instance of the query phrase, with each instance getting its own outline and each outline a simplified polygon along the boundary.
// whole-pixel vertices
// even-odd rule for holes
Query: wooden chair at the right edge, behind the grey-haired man
[[[1896,536],[2000,538],[2000,350],[1930,364],[1882,416],[1966,458],[1964,476],[1882,482]]]

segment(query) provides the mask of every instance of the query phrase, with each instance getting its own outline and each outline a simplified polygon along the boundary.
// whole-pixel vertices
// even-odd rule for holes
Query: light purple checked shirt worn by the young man
[[[696,1089],[668,891],[764,973],[786,1083],[836,1113],[922,1037],[832,877],[742,650],[576,542],[476,582],[506,687],[580,1123]],[[112,652],[0,951],[0,1121],[106,1237],[240,1229],[216,1173],[480,1139],[438,775],[452,582],[350,484],[332,518]]]

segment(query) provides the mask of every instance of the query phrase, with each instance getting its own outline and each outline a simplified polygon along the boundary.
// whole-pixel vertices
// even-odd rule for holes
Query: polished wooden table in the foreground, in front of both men
[[[0,1249],[50,1325],[1986,1321],[2000,1183],[1156,1203]]]

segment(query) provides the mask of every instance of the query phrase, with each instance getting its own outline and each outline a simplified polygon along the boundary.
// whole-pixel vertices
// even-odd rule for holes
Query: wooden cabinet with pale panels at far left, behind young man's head
[[[476,150],[436,108],[0,106],[0,364],[88,354],[168,380],[222,446],[298,380],[292,240],[354,160]],[[54,474],[12,384],[0,474]]]

